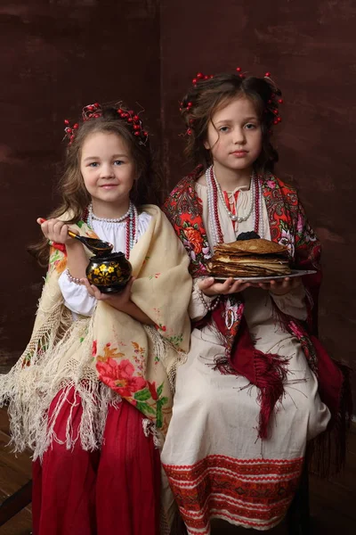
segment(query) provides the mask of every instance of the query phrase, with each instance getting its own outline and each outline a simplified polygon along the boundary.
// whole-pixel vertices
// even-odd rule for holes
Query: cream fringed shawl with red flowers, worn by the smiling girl
[[[142,325],[105,301],[97,302],[92,317],[73,321],[58,284],[66,256],[52,248],[28,347],[9,374],[0,377],[0,405],[9,401],[16,450],[30,448],[35,458],[42,457],[58,440],[53,429],[56,415],[73,387],[81,397],[83,416],[78,436],[68,421],[67,448],[76,440],[84,449],[99,448],[108,404],[120,399],[132,403],[161,435],[166,434],[175,368],[189,349],[189,259],[161,210],[153,205],[143,210],[151,220],[131,251],[137,277],[131,299],[155,326]],[[72,227],[93,236],[82,221]],[[49,420],[48,407],[61,389]]]

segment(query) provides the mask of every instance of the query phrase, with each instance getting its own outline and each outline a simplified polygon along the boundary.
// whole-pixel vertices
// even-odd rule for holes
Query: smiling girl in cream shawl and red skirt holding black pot
[[[34,452],[35,535],[158,535],[168,532],[158,446],[190,340],[189,259],[166,216],[142,206],[156,178],[134,111],[93,104],[80,125],[66,124],[63,205],[38,221],[40,253],[52,242],[49,270],[0,400],[9,402],[15,450]],[[69,229],[125,251],[133,279],[123,292],[88,283],[89,251]]]

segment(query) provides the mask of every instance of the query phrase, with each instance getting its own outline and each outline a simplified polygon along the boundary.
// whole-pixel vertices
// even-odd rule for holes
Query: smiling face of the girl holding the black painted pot
[[[110,132],[94,132],[85,138],[80,170],[93,205],[128,206],[134,185],[134,161],[124,140]]]

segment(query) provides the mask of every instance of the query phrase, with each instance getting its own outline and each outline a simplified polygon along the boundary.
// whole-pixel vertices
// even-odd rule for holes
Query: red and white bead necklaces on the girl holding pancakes
[[[263,235],[263,210],[262,210],[262,186],[261,180],[253,173],[251,177],[251,202],[247,213],[241,216],[235,215],[226,206],[225,199],[223,197],[223,191],[220,184],[216,180],[213,166],[206,169],[206,185],[207,185],[207,206],[209,214],[211,214],[211,227],[214,245],[216,243],[223,243],[223,231],[219,220],[218,211],[218,199],[223,202],[223,208],[226,210],[227,215],[231,218],[231,221],[247,221],[247,219],[254,215],[255,224],[254,230],[256,234]],[[258,232],[260,229],[260,233]]]

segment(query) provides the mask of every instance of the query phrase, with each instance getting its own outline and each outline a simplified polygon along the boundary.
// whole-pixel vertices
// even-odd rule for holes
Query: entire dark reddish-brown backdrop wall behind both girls
[[[39,235],[36,217],[53,207],[62,119],[75,118],[83,103],[138,100],[162,139],[166,180],[174,185],[190,169],[182,158],[182,94],[198,70],[239,65],[270,70],[283,90],[278,174],[299,185],[323,243],[321,338],[336,358],[354,364],[354,3],[161,0],[160,12],[158,4],[0,7],[2,363],[19,356],[33,323],[41,281],[25,247]]]

